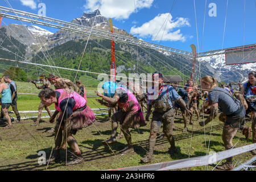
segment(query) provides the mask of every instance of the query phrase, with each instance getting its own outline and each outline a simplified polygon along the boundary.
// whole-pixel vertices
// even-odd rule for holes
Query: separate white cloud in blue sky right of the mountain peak
[[[191,26],[187,18],[176,18],[172,20],[170,13],[158,14],[154,19],[144,23],[141,27],[131,27],[130,33],[139,35],[142,38],[151,37],[152,40],[181,40],[184,42],[186,38],[181,34],[181,30],[174,31],[175,28],[184,26]]]

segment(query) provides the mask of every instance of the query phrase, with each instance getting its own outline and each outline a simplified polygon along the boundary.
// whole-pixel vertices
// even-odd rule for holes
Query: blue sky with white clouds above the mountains
[[[199,36],[197,51],[222,48],[227,1],[207,1],[203,47],[201,47],[205,0],[195,0]],[[7,2],[14,9],[34,14],[38,14],[37,6],[42,2],[46,4],[46,16],[68,22],[79,18],[85,11],[94,11],[100,7],[101,14],[112,18],[115,27],[126,30],[147,42],[189,52],[191,44],[198,47],[193,0],[2,0],[0,6],[10,7]],[[217,16],[209,16],[209,11],[212,9],[212,6],[208,7],[210,3],[215,3]],[[223,48],[242,46],[243,41],[245,44],[256,43],[255,17],[256,0],[229,0]],[[2,24],[9,23],[21,24],[16,20],[3,18]],[[245,23],[244,39],[243,23]],[[57,31],[54,28],[40,27],[51,32]]]

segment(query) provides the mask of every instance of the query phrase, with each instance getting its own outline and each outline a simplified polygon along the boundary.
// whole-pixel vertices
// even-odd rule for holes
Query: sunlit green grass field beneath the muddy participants
[[[39,93],[40,91],[29,83],[16,82],[16,84],[18,86],[18,92]],[[86,88],[86,90],[88,96],[95,95],[94,88]],[[19,110],[38,110],[40,103],[38,96],[19,95],[18,97]],[[96,103],[93,97],[88,97],[88,105],[91,108],[103,107]],[[53,105],[51,109],[54,109]],[[84,163],[66,167],[64,165],[66,151],[61,151],[61,163],[50,164],[47,170],[104,170],[143,165],[140,163],[140,159],[146,154],[146,151],[148,151],[150,122],[147,122],[147,125],[140,129],[131,130],[135,152],[128,155],[121,155],[119,151],[126,146],[126,140],[124,138],[119,139],[116,144],[110,146],[111,148],[102,146],[102,140],[110,137],[111,125],[107,115],[96,117],[96,119],[96,122],[79,130],[75,135],[82,156],[84,156]],[[203,118],[201,118],[201,121],[203,121]],[[0,140],[0,170],[46,170],[46,166],[40,166],[38,164],[38,152],[45,151],[46,158],[49,158],[52,147],[54,146],[54,136],[46,131],[51,129],[54,124],[49,123],[48,119],[42,119],[40,125],[34,127],[30,126],[32,122],[34,121],[31,119],[23,120],[18,124],[14,124],[13,129],[9,130],[1,129],[1,127],[5,126],[2,123],[0,126],[0,136],[2,138],[2,140]],[[194,122],[195,125],[188,125],[189,131],[183,133],[183,119],[181,119],[181,117],[175,118],[174,135],[179,152],[170,156],[167,153],[168,147],[170,147],[167,139],[157,139],[154,151],[154,162],[152,163],[204,156],[208,150],[209,152],[225,150],[224,143],[221,139],[223,123],[218,121],[218,119],[214,119],[212,123],[209,123],[205,127],[204,132],[203,127],[200,127],[199,124],[196,123],[196,118],[194,118]],[[246,126],[250,125],[250,122],[246,123]],[[118,128],[118,132],[119,131]],[[251,138],[246,140],[240,132],[238,132],[233,139],[233,144],[236,144],[236,147],[251,143]],[[70,153],[69,151],[70,148],[68,148],[68,154]],[[250,158],[252,158],[250,152],[234,156],[234,164],[238,166],[240,163]],[[205,171],[212,170],[213,167],[214,165],[209,165],[176,170]]]

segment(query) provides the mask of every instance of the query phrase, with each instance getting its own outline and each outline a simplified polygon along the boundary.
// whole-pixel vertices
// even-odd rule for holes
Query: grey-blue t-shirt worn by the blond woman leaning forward
[[[240,109],[240,101],[233,98],[227,90],[220,87],[213,88],[208,98],[210,104],[218,102],[218,109],[227,115],[233,114]]]

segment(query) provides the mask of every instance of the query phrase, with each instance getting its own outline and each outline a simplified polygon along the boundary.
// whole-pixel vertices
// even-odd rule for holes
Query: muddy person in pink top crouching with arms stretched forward
[[[146,123],[143,118],[143,113],[141,111],[141,106],[136,97],[130,90],[126,88],[118,87],[115,89],[114,97],[110,98],[102,95],[101,93],[95,91],[97,96],[103,98],[113,107],[118,104],[120,110],[117,113],[114,113],[110,118],[112,122],[112,134],[109,139],[102,141],[102,144],[109,145],[117,142],[115,135],[117,133],[118,122],[120,123],[121,131],[125,135],[126,142],[128,144],[120,152],[122,154],[127,154],[129,152],[134,152],[133,145],[131,144],[131,134],[129,128],[137,129],[141,126],[146,126]],[[97,100],[102,104],[100,100]]]

